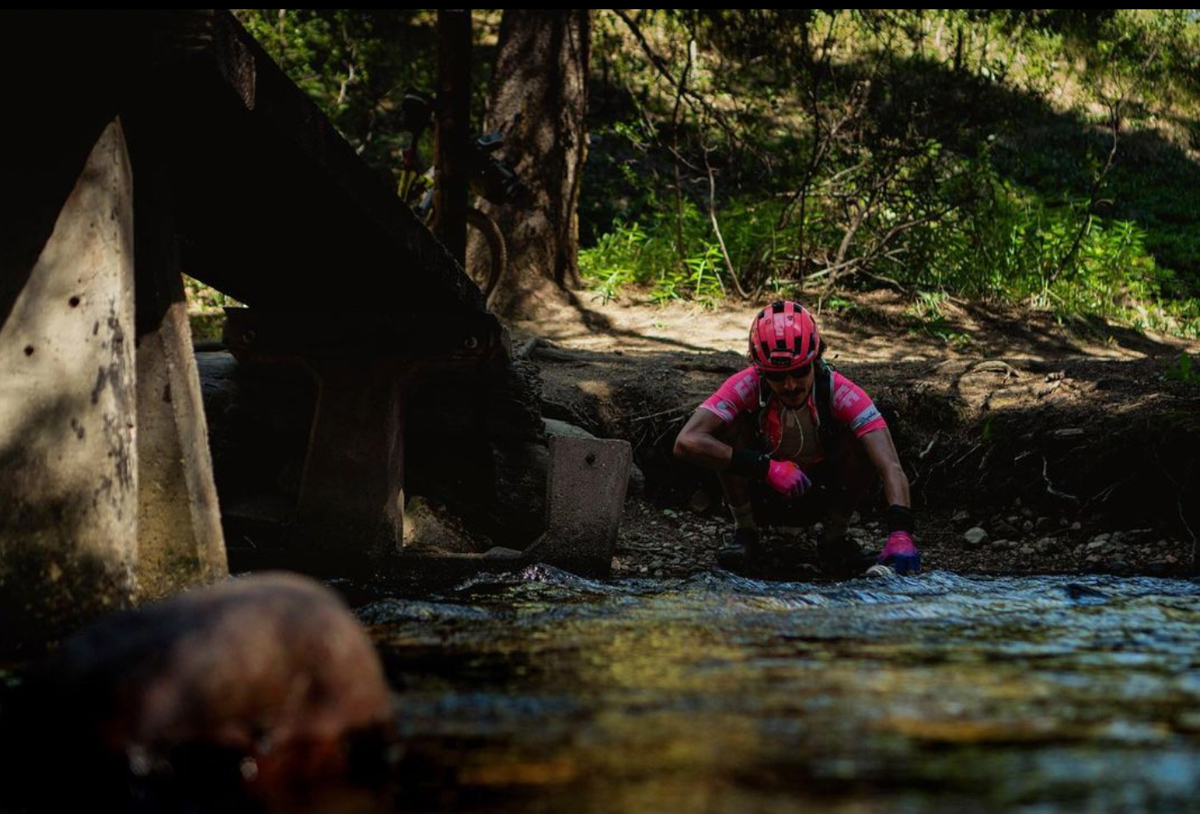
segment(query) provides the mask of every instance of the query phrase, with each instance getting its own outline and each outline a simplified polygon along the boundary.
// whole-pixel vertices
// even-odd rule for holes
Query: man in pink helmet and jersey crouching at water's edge
[[[829,576],[863,574],[858,546],[846,538],[854,508],[883,481],[888,538],[876,562],[899,574],[920,570],[913,544],[908,478],[880,411],[857,384],[823,359],[824,342],[799,303],[764,307],[750,325],[750,366],[731,376],[696,409],[674,454],[714,469],[733,514],[733,540],[718,555],[731,570],[770,576],[758,510],[787,525],[823,521],[817,558]],[[767,499],[770,492],[778,499]],[[752,499],[761,498],[761,499]]]

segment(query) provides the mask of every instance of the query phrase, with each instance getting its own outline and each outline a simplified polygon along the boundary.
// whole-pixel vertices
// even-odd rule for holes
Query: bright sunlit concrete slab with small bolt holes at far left
[[[132,194],[114,120],[32,269],[0,269],[19,288],[0,325],[0,638],[10,644],[60,635],[133,598]]]

